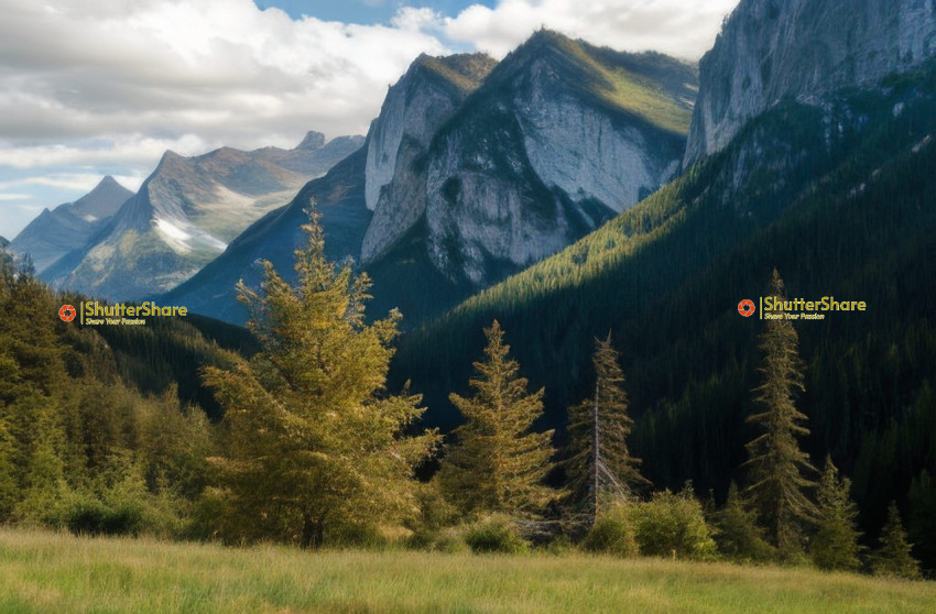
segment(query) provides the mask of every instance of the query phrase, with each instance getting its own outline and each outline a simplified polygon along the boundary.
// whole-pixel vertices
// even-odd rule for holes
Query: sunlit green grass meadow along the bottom
[[[936,612],[936,583],[581,555],[230,549],[0,530],[0,612]]]

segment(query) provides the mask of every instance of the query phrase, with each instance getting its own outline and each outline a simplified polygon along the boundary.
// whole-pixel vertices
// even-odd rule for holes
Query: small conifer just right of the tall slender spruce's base
[[[816,567],[855,571],[861,564],[858,558],[860,533],[856,528],[858,508],[849,497],[851,480],[839,479],[838,469],[826,457],[826,468],[819,480],[818,533],[813,539],[809,555]]]

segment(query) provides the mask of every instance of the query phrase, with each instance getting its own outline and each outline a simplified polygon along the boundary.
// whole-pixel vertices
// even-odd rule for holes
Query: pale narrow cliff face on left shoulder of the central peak
[[[368,133],[364,197],[374,211],[361,259],[370,262],[418,219],[425,180],[415,166],[442,124],[481,84],[497,62],[483,54],[421,55],[387,92]],[[394,179],[396,179],[394,182]]]

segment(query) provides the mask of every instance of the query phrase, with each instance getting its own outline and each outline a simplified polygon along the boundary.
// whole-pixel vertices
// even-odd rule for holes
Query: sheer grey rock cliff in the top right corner
[[[934,53],[933,0],[742,0],[699,64],[684,166],[784,97],[815,103]]]

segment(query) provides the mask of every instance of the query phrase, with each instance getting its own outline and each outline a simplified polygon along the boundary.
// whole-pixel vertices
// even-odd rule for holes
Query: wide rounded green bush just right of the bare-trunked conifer
[[[688,486],[678,494],[655,493],[645,503],[631,506],[628,517],[641,555],[685,559],[716,558],[715,540],[703,508]]]

